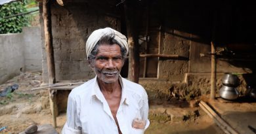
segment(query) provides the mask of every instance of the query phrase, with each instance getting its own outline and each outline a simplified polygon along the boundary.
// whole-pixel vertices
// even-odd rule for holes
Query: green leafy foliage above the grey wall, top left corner
[[[28,16],[26,15],[5,19],[8,16],[26,12],[26,1],[23,3],[20,1],[15,1],[0,6],[0,34],[20,33],[22,31],[22,27],[29,25]]]

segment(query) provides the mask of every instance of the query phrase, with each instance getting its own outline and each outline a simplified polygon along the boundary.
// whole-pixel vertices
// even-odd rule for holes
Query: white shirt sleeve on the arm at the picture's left
[[[67,121],[62,129],[62,134],[81,134],[81,122],[79,120],[79,105],[71,94],[68,96]]]

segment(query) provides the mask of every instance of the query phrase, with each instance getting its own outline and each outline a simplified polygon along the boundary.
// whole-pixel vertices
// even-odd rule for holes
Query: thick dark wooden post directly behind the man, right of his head
[[[135,28],[135,15],[133,14],[135,8],[128,8],[127,5],[124,5],[125,9],[125,22],[127,27],[127,38],[129,45],[129,71],[128,71],[128,79],[139,83],[139,42],[138,36]]]

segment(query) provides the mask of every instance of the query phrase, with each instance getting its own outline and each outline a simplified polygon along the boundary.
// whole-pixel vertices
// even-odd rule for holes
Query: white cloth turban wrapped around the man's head
[[[93,50],[93,48],[95,47],[96,43],[103,37],[106,35],[111,35],[112,37],[114,37],[114,39],[123,47],[125,47],[126,49],[126,54],[128,54],[128,44],[127,44],[127,39],[125,37],[125,35],[122,35],[119,31],[116,31],[110,27],[106,27],[104,29],[97,29],[95,31],[93,31],[93,33],[91,33],[91,35],[89,36],[89,38],[87,39],[86,42],[86,54],[87,54],[87,59],[89,57],[89,55],[91,54],[91,51]]]

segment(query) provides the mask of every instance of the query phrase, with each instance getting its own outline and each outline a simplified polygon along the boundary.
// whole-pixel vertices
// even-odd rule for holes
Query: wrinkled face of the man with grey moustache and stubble
[[[101,44],[98,46],[98,53],[93,60],[91,67],[98,76],[98,80],[105,83],[118,81],[121,67],[123,67],[120,46],[117,44]]]

